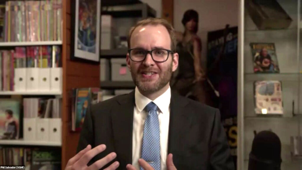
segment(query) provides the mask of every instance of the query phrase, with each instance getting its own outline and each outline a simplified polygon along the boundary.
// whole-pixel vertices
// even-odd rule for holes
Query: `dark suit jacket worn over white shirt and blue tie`
[[[111,152],[117,154],[114,161],[120,162],[119,169],[132,164],[134,104],[132,91],[87,110],[77,152],[88,144],[92,148],[100,144],[107,146],[88,165]],[[177,169],[234,169],[219,110],[175,93],[171,94],[168,153],[173,154]]]

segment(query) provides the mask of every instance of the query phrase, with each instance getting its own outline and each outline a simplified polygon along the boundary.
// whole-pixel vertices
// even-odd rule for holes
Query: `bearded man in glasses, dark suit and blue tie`
[[[89,108],[80,152],[66,169],[234,169],[219,111],[171,93],[175,44],[163,19],[130,30],[126,60],[136,89]]]

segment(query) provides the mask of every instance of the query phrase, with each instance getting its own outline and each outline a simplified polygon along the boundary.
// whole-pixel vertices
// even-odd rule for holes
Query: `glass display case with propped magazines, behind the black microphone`
[[[281,141],[281,169],[302,169],[300,3],[240,0],[237,169],[248,169],[254,137],[264,130]]]

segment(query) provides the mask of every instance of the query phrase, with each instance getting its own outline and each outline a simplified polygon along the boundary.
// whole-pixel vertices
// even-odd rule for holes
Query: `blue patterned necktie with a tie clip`
[[[144,125],[142,144],[142,159],[149,163],[155,170],[160,170],[160,136],[159,121],[156,113],[157,106],[150,102],[146,107],[147,118]],[[140,167],[140,170],[143,170]]]

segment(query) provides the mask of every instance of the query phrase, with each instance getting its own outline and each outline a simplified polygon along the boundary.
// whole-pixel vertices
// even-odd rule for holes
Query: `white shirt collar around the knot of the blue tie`
[[[157,105],[162,113],[169,113],[170,100],[171,89],[169,86],[168,90],[166,90],[165,93],[153,100],[153,102]],[[150,102],[152,102],[152,100],[140,93],[138,88],[135,87],[135,105],[138,111],[141,112]]]

